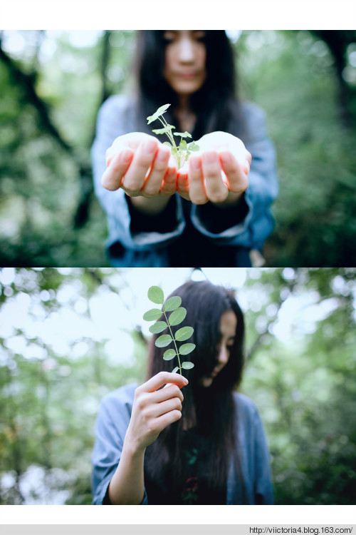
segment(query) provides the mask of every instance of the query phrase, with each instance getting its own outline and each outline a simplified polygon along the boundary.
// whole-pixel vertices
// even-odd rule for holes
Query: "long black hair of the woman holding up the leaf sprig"
[[[191,339],[187,340],[196,345],[194,352],[187,357],[187,360],[194,362],[194,367],[184,370],[189,384],[183,389],[182,418],[164,429],[147,448],[145,481],[153,482],[155,488],[161,491],[167,491],[169,485],[171,494],[179,495],[179,489],[182,488],[187,474],[182,450],[184,432],[193,427],[199,436],[200,447],[204,450],[204,472],[199,474],[199,478],[204,482],[208,493],[216,495],[217,492],[221,495],[226,492],[231,459],[234,459],[241,478],[241,467],[236,453],[238,414],[233,391],[241,381],[244,366],[244,315],[233,292],[207,281],[186,282],[172,295],[179,295],[182,298],[182,306],[187,309],[184,322],[173,327],[173,332],[184,325],[194,328]],[[211,386],[203,387],[201,377],[210,374],[216,366],[221,344],[221,317],[228,310],[234,312],[237,320],[229,361],[214,378]],[[162,359],[166,348],[155,346],[157,336],[151,340],[147,379],[162,370],[172,371],[173,367],[172,361]]]

